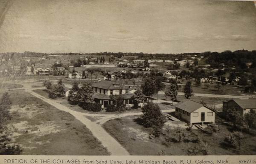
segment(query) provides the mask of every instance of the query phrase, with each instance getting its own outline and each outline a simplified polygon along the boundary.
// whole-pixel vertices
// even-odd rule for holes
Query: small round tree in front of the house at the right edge
[[[229,122],[233,123],[233,127],[236,128],[237,124],[240,124],[243,120],[243,117],[241,116],[241,113],[239,113],[236,109],[228,109],[226,112],[226,119]]]

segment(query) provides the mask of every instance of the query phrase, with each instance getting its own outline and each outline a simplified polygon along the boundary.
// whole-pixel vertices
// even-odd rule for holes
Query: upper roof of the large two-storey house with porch
[[[120,85],[120,82],[113,82],[108,80],[102,80],[96,84],[93,84],[92,87],[102,88],[105,90],[119,90],[119,89],[128,89],[128,86]]]

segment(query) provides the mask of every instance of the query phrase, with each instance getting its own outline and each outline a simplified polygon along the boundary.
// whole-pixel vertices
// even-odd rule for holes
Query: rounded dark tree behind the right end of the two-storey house
[[[143,79],[143,84],[141,86],[143,94],[146,96],[152,96],[154,93],[157,92],[157,86],[155,81],[150,78]]]

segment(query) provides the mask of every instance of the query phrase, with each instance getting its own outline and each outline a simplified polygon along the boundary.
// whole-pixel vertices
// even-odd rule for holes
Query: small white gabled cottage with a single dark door
[[[215,110],[189,99],[175,105],[175,116],[190,125],[215,123]]]

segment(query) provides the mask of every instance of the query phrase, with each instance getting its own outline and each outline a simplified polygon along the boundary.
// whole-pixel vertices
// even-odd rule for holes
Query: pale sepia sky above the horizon
[[[12,0],[1,13],[0,52],[256,49],[256,8],[248,1]]]

